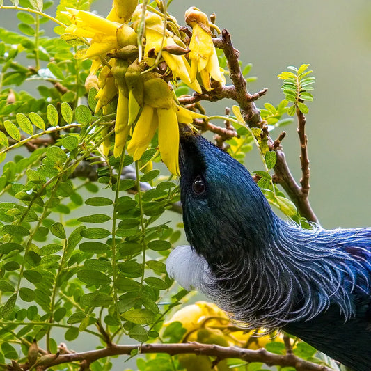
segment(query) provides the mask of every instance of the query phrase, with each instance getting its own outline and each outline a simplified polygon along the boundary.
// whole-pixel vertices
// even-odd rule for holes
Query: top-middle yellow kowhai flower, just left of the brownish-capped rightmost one
[[[136,26],[138,26],[140,18],[141,6],[138,6],[133,15],[133,20],[136,19],[134,23]],[[159,15],[148,11],[145,12],[145,62],[152,66],[155,63],[155,59],[150,58],[148,53],[153,52],[158,54],[161,51],[161,56],[164,58],[168,68],[173,72],[174,79],[179,77],[190,88],[194,89],[197,93],[201,93],[201,87],[198,81],[195,79],[192,80],[190,77],[191,67],[185,56],[166,52],[166,48],[168,50],[174,47],[178,48],[172,36],[173,34],[166,30],[164,38],[164,21]]]

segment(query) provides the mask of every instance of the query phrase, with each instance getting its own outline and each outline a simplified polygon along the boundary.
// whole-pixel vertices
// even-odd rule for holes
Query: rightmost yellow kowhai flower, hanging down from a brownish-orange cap
[[[210,31],[207,15],[192,6],[185,13],[185,20],[193,29],[191,41],[189,42],[189,49],[191,49],[191,52],[189,52],[191,81],[194,81],[196,74],[199,73],[206,90],[212,90],[210,77],[221,84],[226,84],[226,79],[221,73],[218,56],[212,42],[212,32]]]

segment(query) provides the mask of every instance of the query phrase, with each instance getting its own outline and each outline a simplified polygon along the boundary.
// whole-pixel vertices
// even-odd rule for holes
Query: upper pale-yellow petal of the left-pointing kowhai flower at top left
[[[105,33],[106,35],[116,35],[118,25],[84,10],[66,8],[72,23],[78,27],[83,27],[89,31]]]

